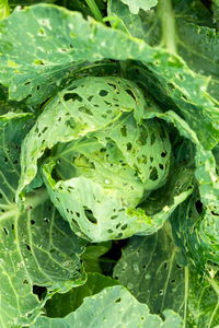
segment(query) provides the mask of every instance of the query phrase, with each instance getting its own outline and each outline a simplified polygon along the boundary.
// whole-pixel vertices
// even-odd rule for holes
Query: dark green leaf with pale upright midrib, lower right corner
[[[219,319],[218,278],[199,276],[185,263],[168,223],[151,236],[130,238],[114,278],[152,313],[172,308],[184,327],[212,328]]]

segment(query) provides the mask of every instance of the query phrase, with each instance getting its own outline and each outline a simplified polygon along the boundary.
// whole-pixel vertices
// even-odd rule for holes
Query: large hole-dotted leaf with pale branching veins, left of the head
[[[30,194],[25,212],[14,203],[19,153],[32,125],[30,114],[0,117],[0,327],[26,326],[47,298],[83,283],[84,243],[60,220],[45,190]],[[43,298],[34,294],[44,286]],[[45,289],[46,288],[46,289]]]

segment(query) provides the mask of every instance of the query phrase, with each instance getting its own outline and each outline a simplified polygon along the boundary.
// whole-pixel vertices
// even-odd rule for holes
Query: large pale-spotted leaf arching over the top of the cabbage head
[[[219,109],[206,92],[209,79],[180,57],[51,4],[16,9],[1,22],[0,82],[13,99],[42,103],[84,61],[103,59],[141,61],[205,148],[218,143]]]

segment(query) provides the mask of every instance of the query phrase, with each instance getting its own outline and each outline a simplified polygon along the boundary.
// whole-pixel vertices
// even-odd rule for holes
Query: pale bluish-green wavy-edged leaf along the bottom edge
[[[118,285],[106,288],[97,295],[87,297],[76,312],[65,318],[41,317],[32,328],[182,327],[182,320],[175,313],[166,311],[164,315],[164,321],[159,316],[151,315],[146,304],[140,304],[125,288]]]

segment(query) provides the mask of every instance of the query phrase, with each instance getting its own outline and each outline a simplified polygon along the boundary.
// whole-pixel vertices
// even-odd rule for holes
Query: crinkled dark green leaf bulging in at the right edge
[[[217,271],[219,263],[218,214],[204,207],[197,192],[181,204],[171,219],[173,234],[187,260],[198,272]]]

